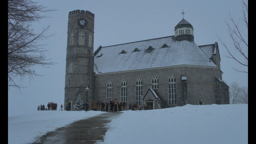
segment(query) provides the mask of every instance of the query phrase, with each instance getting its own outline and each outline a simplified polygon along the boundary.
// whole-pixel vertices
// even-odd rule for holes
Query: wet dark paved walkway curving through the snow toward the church
[[[73,122],[38,138],[32,144],[94,144],[103,142],[108,127],[106,124],[117,118],[121,112],[106,112],[97,117]]]

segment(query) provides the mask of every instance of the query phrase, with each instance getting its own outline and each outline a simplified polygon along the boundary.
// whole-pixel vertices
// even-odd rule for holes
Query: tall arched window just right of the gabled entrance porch
[[[169,105],[176,105],[176,78],[173,74],[168,79]]]

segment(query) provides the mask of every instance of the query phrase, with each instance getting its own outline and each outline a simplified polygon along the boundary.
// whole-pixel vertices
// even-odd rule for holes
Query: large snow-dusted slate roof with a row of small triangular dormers
[[[168,47],[161,48],[164,44]],[[174,36],[100,46],[94,52],[94,72],[111,73],[176,65],[217,67],[209,61],[213,52],[211,45],[208,48],[203,46],[200,49],[193,41],[177,41]]]

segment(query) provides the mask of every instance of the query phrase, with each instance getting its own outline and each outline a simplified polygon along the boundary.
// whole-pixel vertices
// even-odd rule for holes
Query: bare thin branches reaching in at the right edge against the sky
[[[242,25],[247,27],[247,33],[244,32],[246,33],[246,35],[244,36],[244,33],[242,33],[242,30],[240,29],[241,27],[239,27],[240,23],[239,22],[236,23],[234,18],[229,13],[229,16],[230,16],[229,20],[231,20],[231,25],[226,20],[225,20],[225,23],[228,26],[227,30],[229,33],[229,37],[232,39],[234,47],[228,48],[227,44],[222,40],[220,40],[218,36],[217,37],[222,43],[222,45],[228,50],[227,57],[236,60],[239,64],[243,66],[248,67],[248,3],[242,0],[240,4],[242,4],[243,16],[240,17],[239,20],[242,22]],[[234,69],[237,72],[248,73],[248,71],[238,70],[235,67],[232,69]]]

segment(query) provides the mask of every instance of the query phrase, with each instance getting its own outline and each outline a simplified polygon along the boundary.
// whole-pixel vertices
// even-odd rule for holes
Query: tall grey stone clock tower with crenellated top
[[[84,10],[69,12],[64,88],[65,110],[72,110],[79,95],[85,102],[88,96],[88,105],[91,105],[94,72],[93,39],[94,14]],[[86,92],[87,86],[88,92]]]

